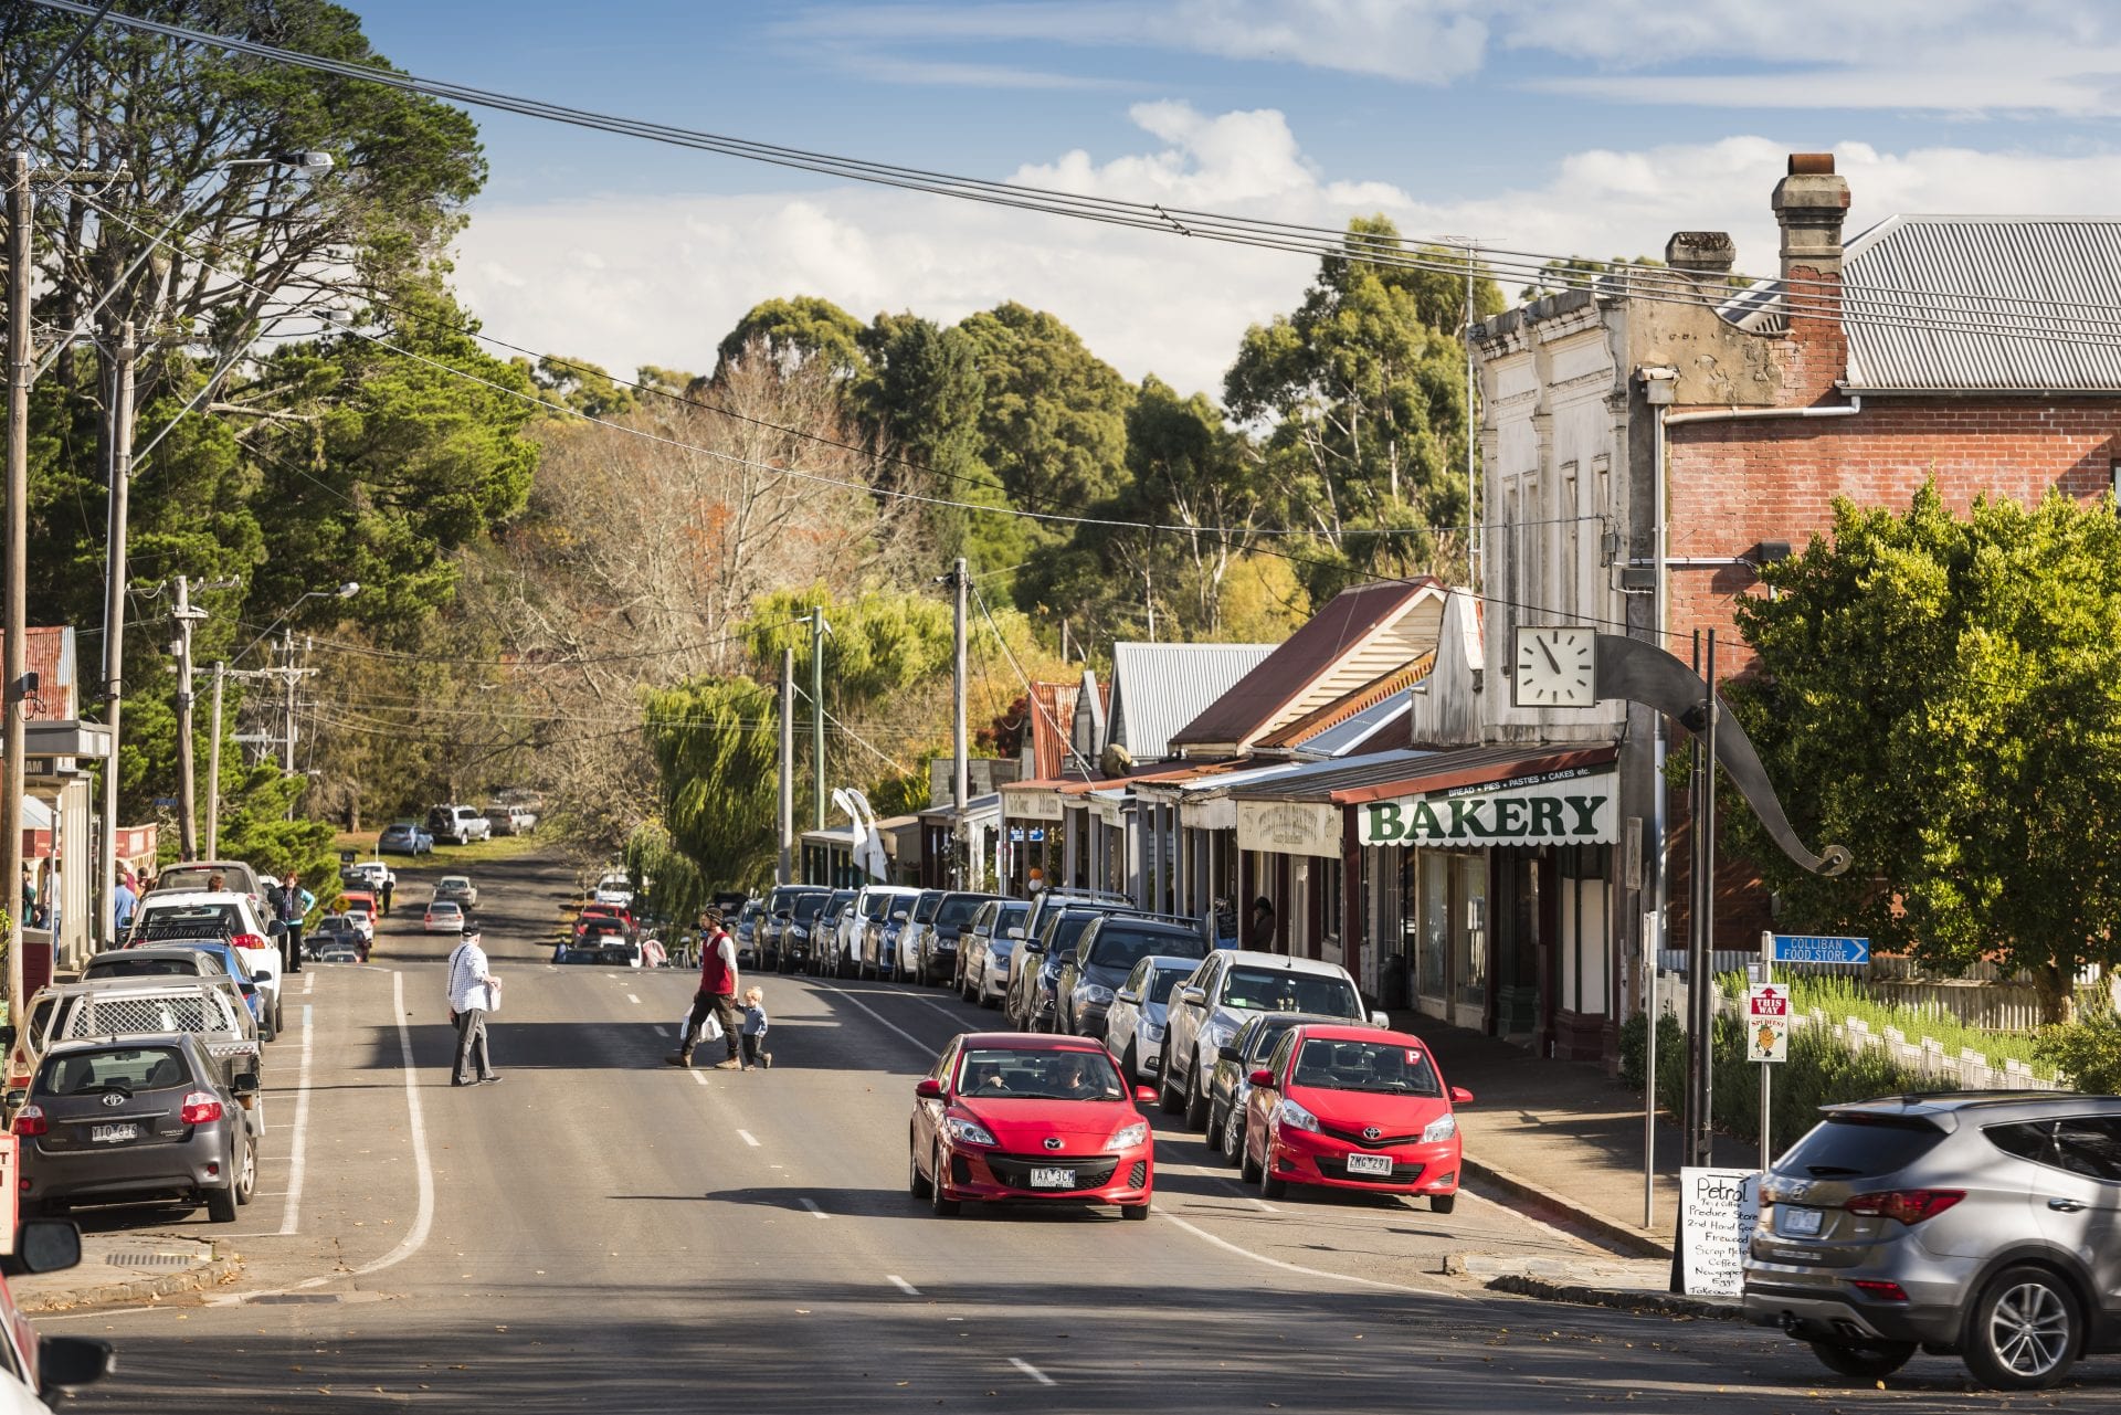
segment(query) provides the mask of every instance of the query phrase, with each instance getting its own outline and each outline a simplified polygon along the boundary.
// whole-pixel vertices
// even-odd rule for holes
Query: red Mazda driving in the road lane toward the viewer
[[[1099,1042],[965,1033],[914,1086],[906,1186],[935,1213],[982,1203],[1116,1203],[1150,1216],[1150,1122]]]

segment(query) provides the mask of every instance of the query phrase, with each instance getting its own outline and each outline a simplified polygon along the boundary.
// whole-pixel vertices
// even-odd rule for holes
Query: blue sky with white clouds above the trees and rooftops
[[[931,172],[1340,229],[1661,255],[1833,151],[1894,212],[2115,214],[2110,0],[346,0],[399,68]],[[1315,259],[842,185],[473,110],[456,248],[488,333],[708,371],[761,299],[952,322],[1016,299],[1128,380],[1220,395]],[[1514,297],[1514,282],[1510,295]]]

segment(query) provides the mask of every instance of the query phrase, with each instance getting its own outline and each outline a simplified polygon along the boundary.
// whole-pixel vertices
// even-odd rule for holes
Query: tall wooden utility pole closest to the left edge
[[[6,649],[0,651],[6,683],[4,721],[0,728],[0,889],[8,891],[6,912],[15,919],[6,950],[6,1020],[21,1035],[21,789],[23,789],[23,677],[30,672],[30,619],[23,598],[30,592],[30,231],[34,208],[30,199],[30,157],[11,153],[6,159]]]

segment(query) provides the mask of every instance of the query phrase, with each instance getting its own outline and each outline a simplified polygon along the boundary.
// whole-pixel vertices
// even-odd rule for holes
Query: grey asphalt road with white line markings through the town
[[[677,1071],[689,974],[549,967],[571,880],[539,861],[475,876],[505,1080],[450,1088],[452,940],[399,878],[369,965],[291,980],[261,1194],[216,1230],[242,1281],[42,1317],[119,1345],[74,1409],[1998,1409],[1956,1362],[1845,1387],[1767,1332],[1470,1288],[1444,1254],[1574,1239],[1478,1196],[1264,1205],[1164,1116],[1147,1224],[937,1220],[906,1192],[912,1082],[993,1012],[766,976],[774,1069]],[[2113,1409],[2121,1368],[2085,1370],[2013,1404]]]

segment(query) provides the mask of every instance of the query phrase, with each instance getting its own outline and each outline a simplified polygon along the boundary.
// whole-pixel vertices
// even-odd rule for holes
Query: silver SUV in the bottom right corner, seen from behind
[[[2121,1097],[1828,1105],[1760,1184],[1746,1317],[1875,1381],[1920,1349],[2045,1390],[2121,1349]]]

